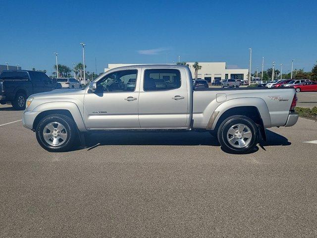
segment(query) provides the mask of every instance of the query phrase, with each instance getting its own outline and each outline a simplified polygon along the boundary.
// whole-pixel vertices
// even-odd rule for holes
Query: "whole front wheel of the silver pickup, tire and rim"
[[[77,135],[73,119],[61,114],[46,116],[36,127],[39,144],[50,152],[69,151],[74,146]]]

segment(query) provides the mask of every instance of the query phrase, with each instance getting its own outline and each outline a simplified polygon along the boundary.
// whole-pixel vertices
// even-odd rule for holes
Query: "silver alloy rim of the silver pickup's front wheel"
[[[60,122],[50,122],[43,129],[43,138],[51,146],[60,146],[67,139],[66,127]]]

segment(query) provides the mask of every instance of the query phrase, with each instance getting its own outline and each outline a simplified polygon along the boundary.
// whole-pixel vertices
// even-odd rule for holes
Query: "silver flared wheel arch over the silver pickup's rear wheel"
[[[262,98],[237,98],[227,100],[220,104],[214,112],[219,112],[213,120],[211,130],[213,130],[221,117],[227,110],[236,107],[256,107],[260,113],[260,117],[263,120],[264,128],[271,127],[271,118],[266,103]],[[212,115],[211,115],[212,117]]]

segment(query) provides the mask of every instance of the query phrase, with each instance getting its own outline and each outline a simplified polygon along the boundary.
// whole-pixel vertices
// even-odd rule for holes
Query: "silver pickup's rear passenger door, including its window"
[[[142,69],[139,95],[141,128],[184,128],[188,96],[185,70]],[[184,80],[181,80],[184,78]],[[164,79],[165,85],[161,85]]]

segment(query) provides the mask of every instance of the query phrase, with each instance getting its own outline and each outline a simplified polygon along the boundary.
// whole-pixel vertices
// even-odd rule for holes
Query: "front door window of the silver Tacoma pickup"
[[[122,70],[107,74],[97,82],[97,88],[104,92],[134,91],[138,70]]]

